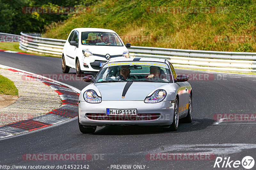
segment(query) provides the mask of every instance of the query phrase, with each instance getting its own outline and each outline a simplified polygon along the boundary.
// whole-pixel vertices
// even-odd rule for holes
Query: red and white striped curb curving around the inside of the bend
[[[17,134],[28,132],[28,131],[33,131],[36,129],[51,126],[53,124],[58,124],[58,123],[70,120],[71,118],[77,117],[77,111],[78,111],[77,101],[80,93],[79,89],[76,89],[75,87],[69,86],[65,83],[61,83],[59,81],[49,79],[47,77],[44,77],[38,74],[26,72],[24,70],[3,66],[3,65],[0,65],[0,67],[6,68],[10,71],[18,72],[30,78],[35,78],[38,81],[41,81],[42,83],[54,89],[62,99],[62,105],[59,108],[52,110],[49,113],[46,113],[44,115],[40,115],[37,117],[33,117],[28,120],[22,120],[12,124],[0,126],[0,138],[5,138],[5,137],[17,135]]]

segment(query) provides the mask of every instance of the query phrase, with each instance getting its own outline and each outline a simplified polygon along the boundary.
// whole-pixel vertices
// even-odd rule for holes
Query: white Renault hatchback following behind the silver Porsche
[[[113,30],[102,28],[75,28],[64,45],[62,72],[75,68],[76,74],[99,71],[111,58],[129,58],[130,43],[124,42]],[[127,47],[127,48],[126,48]]]

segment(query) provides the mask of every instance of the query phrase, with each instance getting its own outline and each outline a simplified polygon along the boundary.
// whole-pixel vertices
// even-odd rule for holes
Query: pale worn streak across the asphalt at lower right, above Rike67
[[[169,152],[189,152],[189,153],[213,153],[231,154],[242,152],[244,149],[256,149],[256,144],[185,144],[185,145],[165,145],[159,148],[136,152],[133,155],[146,155],[148,153],[169,153]]]

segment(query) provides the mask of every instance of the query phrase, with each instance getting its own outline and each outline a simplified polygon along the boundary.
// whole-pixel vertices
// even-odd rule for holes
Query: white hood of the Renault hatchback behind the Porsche
[[[89,45],[81,45],[81,49],[88,50],[93,54],[100,55],[120,55],[123,54],[124,51],[128,51],[125,46],[89,46]]]

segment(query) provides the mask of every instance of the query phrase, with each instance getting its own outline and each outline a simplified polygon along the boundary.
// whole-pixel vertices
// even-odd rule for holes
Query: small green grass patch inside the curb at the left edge
[[[18,96],[18,89],[13,81],[0,75],[0,94]]]

